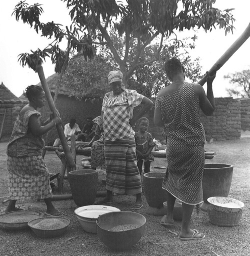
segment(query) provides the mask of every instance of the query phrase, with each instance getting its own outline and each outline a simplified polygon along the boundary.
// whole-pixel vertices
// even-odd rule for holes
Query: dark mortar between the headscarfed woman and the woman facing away
[[[143,175],[146,201],[149,205],[146,213],[161,216],[164,213],[163,202],[166,201],[166,190],[162,188],[164,172],[148,172]]]

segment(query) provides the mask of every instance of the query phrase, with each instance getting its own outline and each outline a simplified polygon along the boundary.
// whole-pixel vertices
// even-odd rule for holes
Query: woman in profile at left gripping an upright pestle
[[[20,210],[16,200],[44,199],[46,213],[62,215],[51,203],[52,190],[49,173],[41,157],[44,140],[41,135],[61,123],[60,117],[47,119],[40,124],[41,114],[37,108],[45,105],[45,94],[41,87],[31,85],[26,88],[29,103],[24,106],[14,123],[7,145],[7,170],[9,177],[9,204],[5,212]]]

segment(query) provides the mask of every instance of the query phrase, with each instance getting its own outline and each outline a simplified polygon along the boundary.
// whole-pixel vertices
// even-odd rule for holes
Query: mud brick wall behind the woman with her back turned
[[[206,137],[209,140],[234,140],[240,138],[241,120],[240,100],[227,98],[215,98],[216,109],[212,116],[205,116],[200,110],[200,120],[204,126]],[[248,101],[250,113],[250,99]],[[153,125],[153,110],[149,112],[149,129],[155,139],[164,140],[161,132],[163,128]],[[249,122],[250,124],[250,122]]]

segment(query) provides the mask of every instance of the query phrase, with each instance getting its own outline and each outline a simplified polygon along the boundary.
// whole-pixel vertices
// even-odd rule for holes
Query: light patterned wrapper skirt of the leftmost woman
[[[7,157],[10,200],[52,197],[48,169],[41,156]]]

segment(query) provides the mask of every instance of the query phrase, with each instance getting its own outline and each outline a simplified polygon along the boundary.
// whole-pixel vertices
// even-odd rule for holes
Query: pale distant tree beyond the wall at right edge
[[[230,96],[250,98],[250,70],[242,70],[224,76],[233,85],[233,88],[227,88]]]

